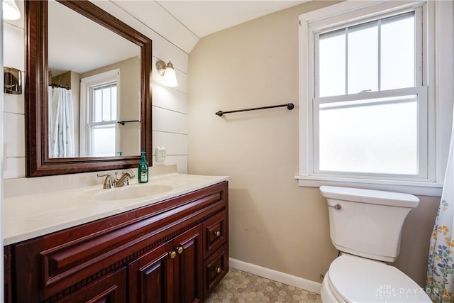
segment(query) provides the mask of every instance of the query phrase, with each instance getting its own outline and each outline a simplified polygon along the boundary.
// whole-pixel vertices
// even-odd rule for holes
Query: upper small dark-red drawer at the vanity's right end
[[[226,243],[227,224],[226,211],[222,211],[204,222],[204,259]]]

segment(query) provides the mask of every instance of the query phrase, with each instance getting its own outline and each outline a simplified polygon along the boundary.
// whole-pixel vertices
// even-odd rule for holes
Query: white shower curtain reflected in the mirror
[[[49,87],[49,157],[74,157],[71,89]]]

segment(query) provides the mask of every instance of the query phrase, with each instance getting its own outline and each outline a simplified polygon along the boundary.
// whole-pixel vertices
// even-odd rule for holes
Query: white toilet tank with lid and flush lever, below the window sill
[[[345,253],[394,262],[399,255],[402,226],[419,204],[412,194],[322,186],[328,202],[333,245]]]

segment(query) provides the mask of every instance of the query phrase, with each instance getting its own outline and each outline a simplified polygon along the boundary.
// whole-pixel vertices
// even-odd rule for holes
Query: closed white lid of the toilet
[[[346,302],[431,302],[404,272],[375,260],[341,255],[328,272],[333,292]]]

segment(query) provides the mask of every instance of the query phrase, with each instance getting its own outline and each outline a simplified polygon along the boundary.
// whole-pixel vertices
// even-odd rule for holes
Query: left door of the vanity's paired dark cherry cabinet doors
[[[128,265],[130,303],[174,302],[172,248],[164,243]]]

